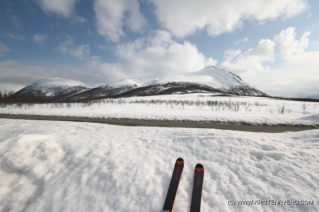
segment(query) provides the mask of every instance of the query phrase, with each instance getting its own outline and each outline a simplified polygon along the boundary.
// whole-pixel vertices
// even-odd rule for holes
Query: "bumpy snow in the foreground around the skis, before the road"
[[[160,211],[178,157],[185,166],[174,212],[189,211],[197,163],[205,167],[202,211],[319,211],[319,130],[13,119],[0,125],[0,211]],[[313,204],[229,206],[229,200]]]

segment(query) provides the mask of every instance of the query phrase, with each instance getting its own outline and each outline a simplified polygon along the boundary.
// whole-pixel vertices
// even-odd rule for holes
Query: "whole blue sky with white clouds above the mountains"
[[[214,65],[269,95],[319,93],[316,0],[2,0],[0,89]]]

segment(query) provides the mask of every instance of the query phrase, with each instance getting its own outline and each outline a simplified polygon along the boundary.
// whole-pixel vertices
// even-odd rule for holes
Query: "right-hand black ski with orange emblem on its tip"
[[[194,170],[194,184],[190,212],[199,212],[202,203],[202,191],[204,182],[204,166],[198,163]]]

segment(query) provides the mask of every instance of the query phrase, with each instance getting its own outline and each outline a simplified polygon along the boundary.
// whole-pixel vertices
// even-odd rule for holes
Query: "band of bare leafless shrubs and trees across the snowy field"
[[[0,90],[0,108],[10,107],[10,108],[18,108],[18,109],[31,109],[35,104],[38,104],[39,107],[51,107],[51,108],[75,108],[75,107],[82,107],[82,108],[91,108],[93,110],[93,105],[97,104],[145,104],[147,106],[154,105],[157,107],[158,105],[165,105],[167,109],[171,110],[185,110],[186,106],[195,106],[196,110],[203,110],[204,107],[210,108],[210,110],[216,110],[216,111],[234,111],[237,112],[239,110],[245,110],[245,111],[251,111],[256,110],[260,112],[261,110],[265,112],[273,113],[276,111],[274,108],[267,107],[268,104],[255,102],[244,102],[244,101],[233,101],[233,96],[228,96],[228,99],[224,100],[165,100],[165,99],[151,99],[151,100],[145,100],[145,99],[135,99],[135,100],[127,100],[125,98],[116,98],[116,99],[97,99],[97,100],[81,100],[81,99],[72,99],[72,100],[64,100],[64,101],[58,101],[58,100],[50,100],[48,96],[39,91],[36,92],[33,95],[17,95],[14,93],[13,90],[6,90],[3,91]],[[313,109],[315,109],[319,104],[313,103]],[[287,108],[285,105],[285,102],[283,102],[282,105],[278,106],[278,113],[290,113],[290,108]],[[303,102],[300,105],[300,109],[303,111],[304,114],[307,113],[307,108],[310,107],[310,103]]]

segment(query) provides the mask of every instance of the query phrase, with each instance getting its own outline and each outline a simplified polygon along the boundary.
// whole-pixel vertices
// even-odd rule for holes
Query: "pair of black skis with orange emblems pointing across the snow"
[[[178,158],[174,165],[174,171],[172,174],[171,182],[169,183],[166,200],[164,203],[163,211],[172,212],[174,208],[174,202],[179,186],[179,182],[182,177],[182,172],[184,168],[184,160]],[[204,166],[198,163],[194,170],[194,183],[193,183],[193,193],[192,201],[190,205],[190,212],[199,212],[202,202],[202,191],[203,191],[203,181],[204,181]]]

